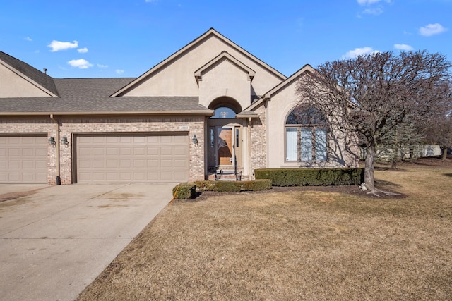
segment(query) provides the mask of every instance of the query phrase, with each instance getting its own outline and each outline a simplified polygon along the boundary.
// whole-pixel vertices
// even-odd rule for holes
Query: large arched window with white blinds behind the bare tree
[[[285,121],[285,161],[326,161],[328,124],[314,106],[299,105]]]

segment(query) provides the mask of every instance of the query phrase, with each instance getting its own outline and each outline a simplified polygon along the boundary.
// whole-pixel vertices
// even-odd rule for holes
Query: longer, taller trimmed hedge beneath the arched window
[[[364,168],[262,168],[256,179],[271,179],[273,186],[359,185]]]

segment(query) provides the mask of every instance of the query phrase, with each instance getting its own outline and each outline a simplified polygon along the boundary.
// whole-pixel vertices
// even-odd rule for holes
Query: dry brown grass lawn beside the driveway
[[[402,198],[174,202],[79,300],[452,300],[452,167],[399,168],[376,178]]]

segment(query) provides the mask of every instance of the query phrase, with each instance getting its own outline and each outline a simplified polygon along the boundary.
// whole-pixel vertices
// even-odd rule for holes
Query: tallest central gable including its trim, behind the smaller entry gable
[[[285,76],[213,29],[195,39],[112,96],[198,96],[194,73],[223,51],[256,71],[253,90],[263,94]]]

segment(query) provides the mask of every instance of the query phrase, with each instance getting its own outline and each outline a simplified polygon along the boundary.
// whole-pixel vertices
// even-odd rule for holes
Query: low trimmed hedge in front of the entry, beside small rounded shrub
[[[195,185],[203,191],[258,191],[271,189],[271,180],[249,180],[249,181],[195,181]]]

